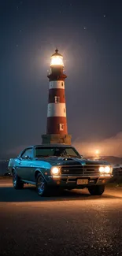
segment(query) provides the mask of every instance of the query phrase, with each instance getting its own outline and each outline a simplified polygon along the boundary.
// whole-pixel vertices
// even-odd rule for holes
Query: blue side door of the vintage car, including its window
[[[31,163],[32,163],[33,149],[28,148],[20,155],[20,162],[17,168],[18,176],[22,180],[31,180]]]

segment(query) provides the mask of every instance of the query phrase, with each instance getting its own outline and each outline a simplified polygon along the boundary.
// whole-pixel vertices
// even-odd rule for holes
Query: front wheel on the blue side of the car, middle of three
[[[46,181],[41,174],[36,178],[36,191],[40,196],[47,195],[48,192]]]

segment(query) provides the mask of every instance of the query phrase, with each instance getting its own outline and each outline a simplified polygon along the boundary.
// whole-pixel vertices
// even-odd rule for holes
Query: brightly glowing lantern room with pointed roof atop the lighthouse
[[[57,49],[55,50],[55,53],[51,56],[50,67],[55,65],[61,65],[62,67],[64,67],[63,56],[61,54],[58,54]]]

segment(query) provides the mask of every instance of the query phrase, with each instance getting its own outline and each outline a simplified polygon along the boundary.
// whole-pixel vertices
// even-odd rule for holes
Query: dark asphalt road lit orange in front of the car
[[[122,188],[40,198],[0,180],[0,255],[122,255]]]

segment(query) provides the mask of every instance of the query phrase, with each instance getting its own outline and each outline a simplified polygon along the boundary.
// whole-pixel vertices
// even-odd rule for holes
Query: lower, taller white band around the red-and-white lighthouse
[[[49,103],[47,117],[66,117],[65,103]]]

